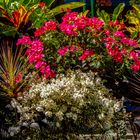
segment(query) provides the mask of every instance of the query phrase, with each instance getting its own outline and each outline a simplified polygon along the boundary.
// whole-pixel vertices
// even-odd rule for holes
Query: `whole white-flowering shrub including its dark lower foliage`
[[[91,131],[92,134],[117,132],[120,136],[119,128],[125,127],[121,102],[111,97],[93,72],[69,70],[56,79],[44,79],[32,84],[29,93],[19,100],[20,105],[16,105],[22,109],[19,124],[28,122],[29,127],[32,123],[44,123],[46,128],[40,133],[53,132],[54,136],[56,132],[67,135]],[[120,114],[118,119],[116,116]]]

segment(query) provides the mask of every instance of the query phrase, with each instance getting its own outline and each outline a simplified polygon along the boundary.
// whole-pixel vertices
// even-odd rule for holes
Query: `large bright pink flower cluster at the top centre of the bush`
[[[100,30],[103,25],[104,22],[99,18],[88,18],[83,15],[79,16],[77,12],[69,12],[62,18],[60,29],[66,35],[76,36],[85,28],[88,30]]]

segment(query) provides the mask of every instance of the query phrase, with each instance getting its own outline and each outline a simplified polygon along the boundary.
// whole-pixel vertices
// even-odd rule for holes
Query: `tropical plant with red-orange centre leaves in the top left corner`
[[[20,2],[3,0],[3,2],[0,3],[1,34],[15,36],[17,32],[23,33],[28,30],[31,26],[29,17],[37,8],[37,3],[35,5],[33,1],[30,1],[32,4],[26,2],[26,0]],[[36,2],[38,1],[36,0]]]

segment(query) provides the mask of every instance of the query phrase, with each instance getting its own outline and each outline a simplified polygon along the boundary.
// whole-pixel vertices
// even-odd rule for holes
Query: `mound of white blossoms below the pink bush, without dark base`
[[[57,127],[63,125],[62,121],[73,120],[76,125],[89,127],[100,122],[105,129],[112,127],[114,113],[121,107],[97,75],[80,70],[69,70],[56,79],[33,84],[21,104],[23,108],[30,108],[24,109],[32,116],[29,118],[34,117],[34,110],[44,112],[46,118],[55,116]]]

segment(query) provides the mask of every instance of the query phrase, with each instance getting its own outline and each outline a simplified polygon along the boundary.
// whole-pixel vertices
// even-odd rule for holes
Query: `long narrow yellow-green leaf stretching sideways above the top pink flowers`
[[[55,15],[58,15],[58,14],[65,12],[68,8],[75,9],[75,8],[82,7],[84,5],[85,5],[85,3],[83,3],[83,2],[70,2],[68,4],[62,4],[60,6],[53,8],[47,14],[55,16]]]

